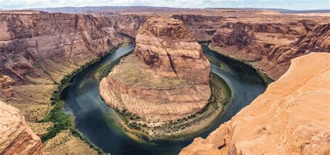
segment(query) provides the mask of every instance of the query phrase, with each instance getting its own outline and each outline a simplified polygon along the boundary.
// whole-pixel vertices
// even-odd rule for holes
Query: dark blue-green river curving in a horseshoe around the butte
[[[203,49],[204,54],[217,60],[221,67],[211,64],[212,72],[228,83],[232,97],[217,122],[203,133],[184,140],[168,140],[162,144],[141,142],[129,136],[118,124],[118,115],[101,99],[98,91],[98,81],[93,79],[97,69],[108,66],[120,56],[134,49],[134,44],[116,49],[113,54],[105,56],[85,70],[79,72],[62,97],[65,101],[65,113],[75,117],[76,128],[97,147],[111,155],[116,154],[178,154],[196,137],[205,138],[220,124],[230,120],[244,106],[247,106],[265,91],[266,85],[258,76],[256,70],[249,65],[215,54]],[[68,110],[66,110],[68,109]]]

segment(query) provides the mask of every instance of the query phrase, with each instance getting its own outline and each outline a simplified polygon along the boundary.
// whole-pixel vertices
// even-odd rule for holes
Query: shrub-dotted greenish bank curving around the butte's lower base
[[[157,127],[148,127],[147,124],[150,124],[150,122],[146,122],[144,118],[130,113],[126,109],[120,111],[115,108],[114,110],[123,120],[124,130],[141,138],[141,140],[158,143],[166,139],[180,139],[209,129],[210,125],[206,127],[202,125],[199,128],[198,125],[205,122],[205,120],[210,122],[207,124],[212,124],[217,120],[216,118],[221,114],[224,106],[230,101],[231,90],[228,84],[217,74],[212,73],[210,88],[212,95],[207,106],[201,111],[179,120],[164,122],[164,124]],[[191,127],[197,127],[197,129],[191,129]],[[152,136],[149,133],[152,133]]]

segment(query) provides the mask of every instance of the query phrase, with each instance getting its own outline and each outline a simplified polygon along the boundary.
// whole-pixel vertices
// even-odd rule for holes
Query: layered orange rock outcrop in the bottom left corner
[[[19,110],[0,101],[0,154],[43,154],[42,142]]]

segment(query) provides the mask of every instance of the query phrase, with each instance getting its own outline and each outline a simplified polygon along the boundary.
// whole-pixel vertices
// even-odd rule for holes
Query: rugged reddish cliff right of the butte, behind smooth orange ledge
[[[245,60],[276,80],[290,60],[312,51],[329,52],[329,24],[311,20],[276,22],[224,19],[212,38],[212,46],[223,54]],[[281,22],[281,20],[284,20]]]

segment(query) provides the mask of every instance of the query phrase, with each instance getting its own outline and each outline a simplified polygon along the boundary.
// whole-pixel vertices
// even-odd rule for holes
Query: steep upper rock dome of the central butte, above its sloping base
[[[210,83],[210,63],[194,35],[179,20],[148,19],[136,35],[134,54],[166,76]]]

